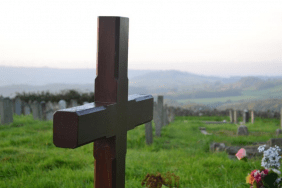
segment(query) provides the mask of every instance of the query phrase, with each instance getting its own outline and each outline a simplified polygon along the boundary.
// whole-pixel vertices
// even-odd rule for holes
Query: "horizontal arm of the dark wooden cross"
[[[127,130],[153,119],[151,95],[128,96]],[[89,103],[58,110],[53,116],[53,142],[56,147],[77,148],[95,140],[115,135],[116,104],[95,106]]]

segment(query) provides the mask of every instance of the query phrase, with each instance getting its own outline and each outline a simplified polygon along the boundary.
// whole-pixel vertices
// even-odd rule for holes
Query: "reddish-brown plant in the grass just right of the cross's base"
[[[172,183],[171,177],[174,177],[174,184]],[[167,180],[166,180],[167,179]],[[148,188],[161,188],[162,185],[168,187],[179,187],[179,177],[176,176],[174,173],[167,172],[165,177],[162,177],[160,173],[154,174],[147,174],[144,180],[142,181],[142,186],[147,186]],[[177,183],[177,185],[176,185]]]

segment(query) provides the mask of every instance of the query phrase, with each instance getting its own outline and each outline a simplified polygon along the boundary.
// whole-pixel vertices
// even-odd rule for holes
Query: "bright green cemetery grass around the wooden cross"
[[[227,116],[176,117],[162,128],[161,137],[153,136],[150,146],[145,143],[145,125],[128,131],[125,187],[145,187],[141,182],[147,173],[157,172],[174,173],[180,178],[179,187],[249,187],[246,176],[260,169],[261,158],[248,163],[231,160],[225,152],[209,152],[209,145],[212,141],[225,145],[266,142],[276,137],[280,121],[256,118],[255,124],[246,124],[250,132],[246,137],[236,136],[234,124],[202,123],[224,119],[229,121]],[[198,127],[202,126],[213,135],[201,134]],[[12,124],[0,126],[1,188],[93,187],[93,143],[77,149],[56,148],[52,131],[52,121],[33,120],[32,115],[14,115]]]

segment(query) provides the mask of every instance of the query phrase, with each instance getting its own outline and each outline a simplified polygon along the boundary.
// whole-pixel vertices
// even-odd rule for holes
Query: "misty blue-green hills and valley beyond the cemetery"
[[[95,69],[23,68],[0,66],[0,96],[75,89],[94,92]],[[197,110],[234,108],[280,112],[282,76],[203,76],[176,70],[129,70],[129,95],[164,96],[168,106]]]

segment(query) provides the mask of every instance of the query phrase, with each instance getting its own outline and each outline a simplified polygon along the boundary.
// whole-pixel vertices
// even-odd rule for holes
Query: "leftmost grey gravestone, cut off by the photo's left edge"
[[[0,114],[1,114],[1,124],[13,123],[13,102],[8,97],[2,98],[0,100]]]

